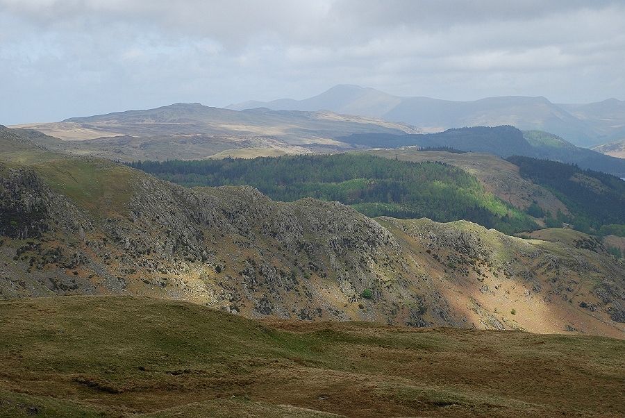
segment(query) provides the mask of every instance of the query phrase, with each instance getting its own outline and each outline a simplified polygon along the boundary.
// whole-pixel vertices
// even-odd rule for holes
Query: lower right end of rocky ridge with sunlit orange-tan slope
[[[615,335],[622,333],[625,265],[594,247],[524,240],[467,221],[381,222],[405,250],[426,256],[428,271],[440,272],[447,299],[469,306],[487,328],[536,329],[544,325],[540,319],[579,330],[590,314],[609,318],[620,330]],[[550,316],[532,318],[541,311]]]

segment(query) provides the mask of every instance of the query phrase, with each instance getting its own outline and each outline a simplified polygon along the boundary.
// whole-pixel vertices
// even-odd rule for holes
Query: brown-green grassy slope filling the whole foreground
[[[625,414],[625,342],[606,337],[253,321],[119,296],[4,301],[0,317],[0,416]]]

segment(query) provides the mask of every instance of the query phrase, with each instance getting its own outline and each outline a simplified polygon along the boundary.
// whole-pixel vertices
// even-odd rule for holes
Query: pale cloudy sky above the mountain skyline
[[[625,0],[0,0],[0,124],[178,102],[625,99]]]

